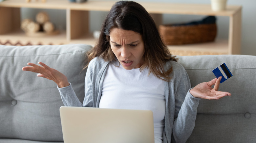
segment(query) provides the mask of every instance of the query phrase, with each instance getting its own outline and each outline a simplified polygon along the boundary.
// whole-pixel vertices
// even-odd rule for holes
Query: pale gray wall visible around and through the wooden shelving
[[[90,0],[93,1],[93,0]],[[101,0],[108,1],[108,0]],[[194,4],[210,4],[210,0],[134,0],[136,2],[170,2],[170,3],[194,3]],[[256,56],[256,1],[255,0],[228,0],[227,5],[241,5],[242,8],[242,55]],[[50,15],[50,20],[58,29],[66,27],[65,10],[53,9],[30,9],[22,8],[22,19],[35,18],[39,11],[46,11]],[[90,31],[98,30],[106,17],[107,12],[91,11],[90,12]],[[163,15],[163,23],[180,23],[201,20],[204,16],[199,15]],[[229,20],[227,17],[217,17],[218,35],[217,38],[228,38]]]

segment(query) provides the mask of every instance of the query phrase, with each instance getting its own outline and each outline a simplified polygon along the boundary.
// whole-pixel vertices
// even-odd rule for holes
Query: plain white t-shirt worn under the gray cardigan
[[[125,70],[118,61],[108,66],[99,108],[151,110],[155,143],[162,143],[165,116],[164,81],[148,70]]]

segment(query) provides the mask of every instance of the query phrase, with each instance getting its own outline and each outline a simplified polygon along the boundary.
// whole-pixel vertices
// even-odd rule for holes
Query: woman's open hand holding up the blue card
[[[190,93],[197,98],[202,98],[202,99],[221,99],[222,97],[225,96],[231,96],[229,92],[223,92],[223,91],[218,91],[220,82],[221,82],[221,76],[217,79],[213,79],[209,82],[203,82],[198,84],[196,87],[192,88],[190,90]],[[211,86],[214,85],[214,88]]]

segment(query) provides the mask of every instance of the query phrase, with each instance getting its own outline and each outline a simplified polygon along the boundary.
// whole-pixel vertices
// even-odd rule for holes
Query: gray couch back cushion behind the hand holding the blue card
[[[230,97],[201,100],[197,119],[188,143],[256,142],[256,56],[217,55],[181,56],[191,87],[215,78],[212,70],[222,63],[233,74],[220,84]]]

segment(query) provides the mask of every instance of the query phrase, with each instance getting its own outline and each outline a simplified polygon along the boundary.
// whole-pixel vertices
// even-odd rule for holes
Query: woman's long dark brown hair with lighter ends
[[[164,64],[169,60],[177,60],[164,44],[150,14],[140,4],[133,1],[118,1],[112,6],[102,24],[97,44],[87,53],[89,61],[97,56],[105,61],[116,59],[110,47],[109,37],[113,28],[132,30],[142,36],[145,61],[140,67],[140,71],[149,68],[149,74],[152,72],[157,78],[165,81],[171,79],[168,75],[173,69],[165,71]]]

